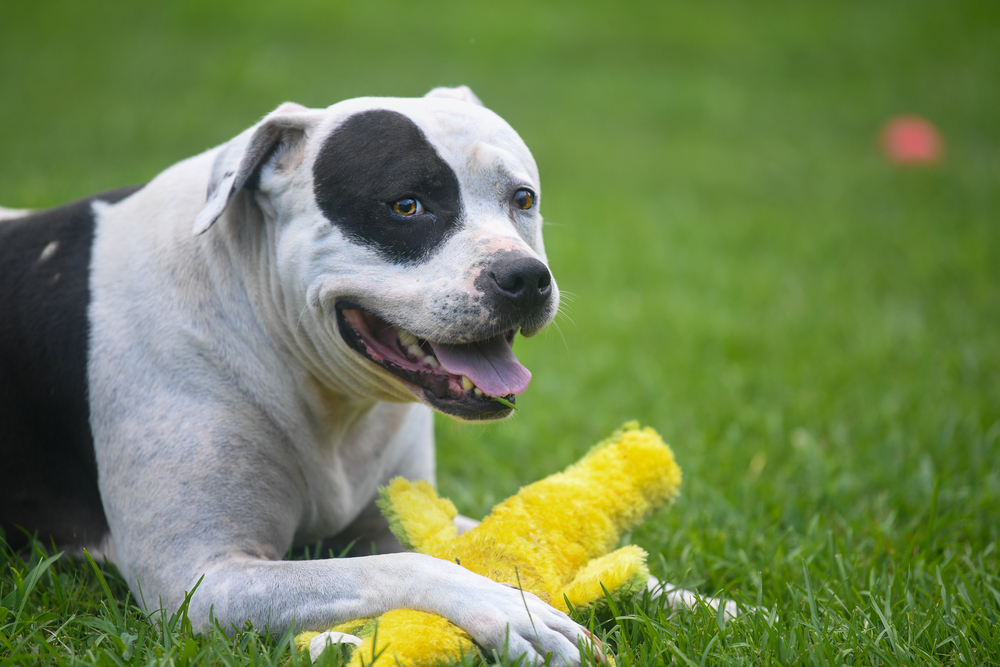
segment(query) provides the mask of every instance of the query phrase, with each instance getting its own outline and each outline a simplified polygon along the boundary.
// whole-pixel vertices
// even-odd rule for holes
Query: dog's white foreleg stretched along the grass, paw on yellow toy
[[[487,651],[531,663],[580,662],[589,633],[531,593],[498,584],[448,561],[401,553],[314,561],[234,559],[217,565],[192,596],[197,627],[246,620],[272,631],[328,629],[398,608],[439,614]]]

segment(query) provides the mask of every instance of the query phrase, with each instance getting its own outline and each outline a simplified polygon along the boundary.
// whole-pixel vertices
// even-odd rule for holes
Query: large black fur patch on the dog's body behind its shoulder
[[[140,187],[0,221],[0,527],[15,549],[21,529],[58,545],[107,533],[87,399],[92,205]]]

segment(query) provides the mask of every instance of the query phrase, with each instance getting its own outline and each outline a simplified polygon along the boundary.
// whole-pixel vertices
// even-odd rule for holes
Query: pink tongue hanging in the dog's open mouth
[[[468,345],[431,346],[442,368],[467,376],[488,396],[523,394],[531,382],[531,371],[521,365],[503,336]]]

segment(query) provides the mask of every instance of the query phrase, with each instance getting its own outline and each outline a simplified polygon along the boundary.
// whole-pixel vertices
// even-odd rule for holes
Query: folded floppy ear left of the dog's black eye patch
[[[268,162],[301,151],[306,130],[314,122],[309,109],[286,102],[223,146],[212,164],[205,208],[194,220],[194,234],[206,232],[241,188],[257,189]]]

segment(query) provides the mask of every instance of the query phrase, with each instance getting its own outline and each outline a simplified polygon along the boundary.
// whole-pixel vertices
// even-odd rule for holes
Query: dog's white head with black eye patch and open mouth
[[[284,343],[331,388],[495,419],[548,324],[531,153],[468,88],[285,104],[223,146],[195,233],[260,225]]]

